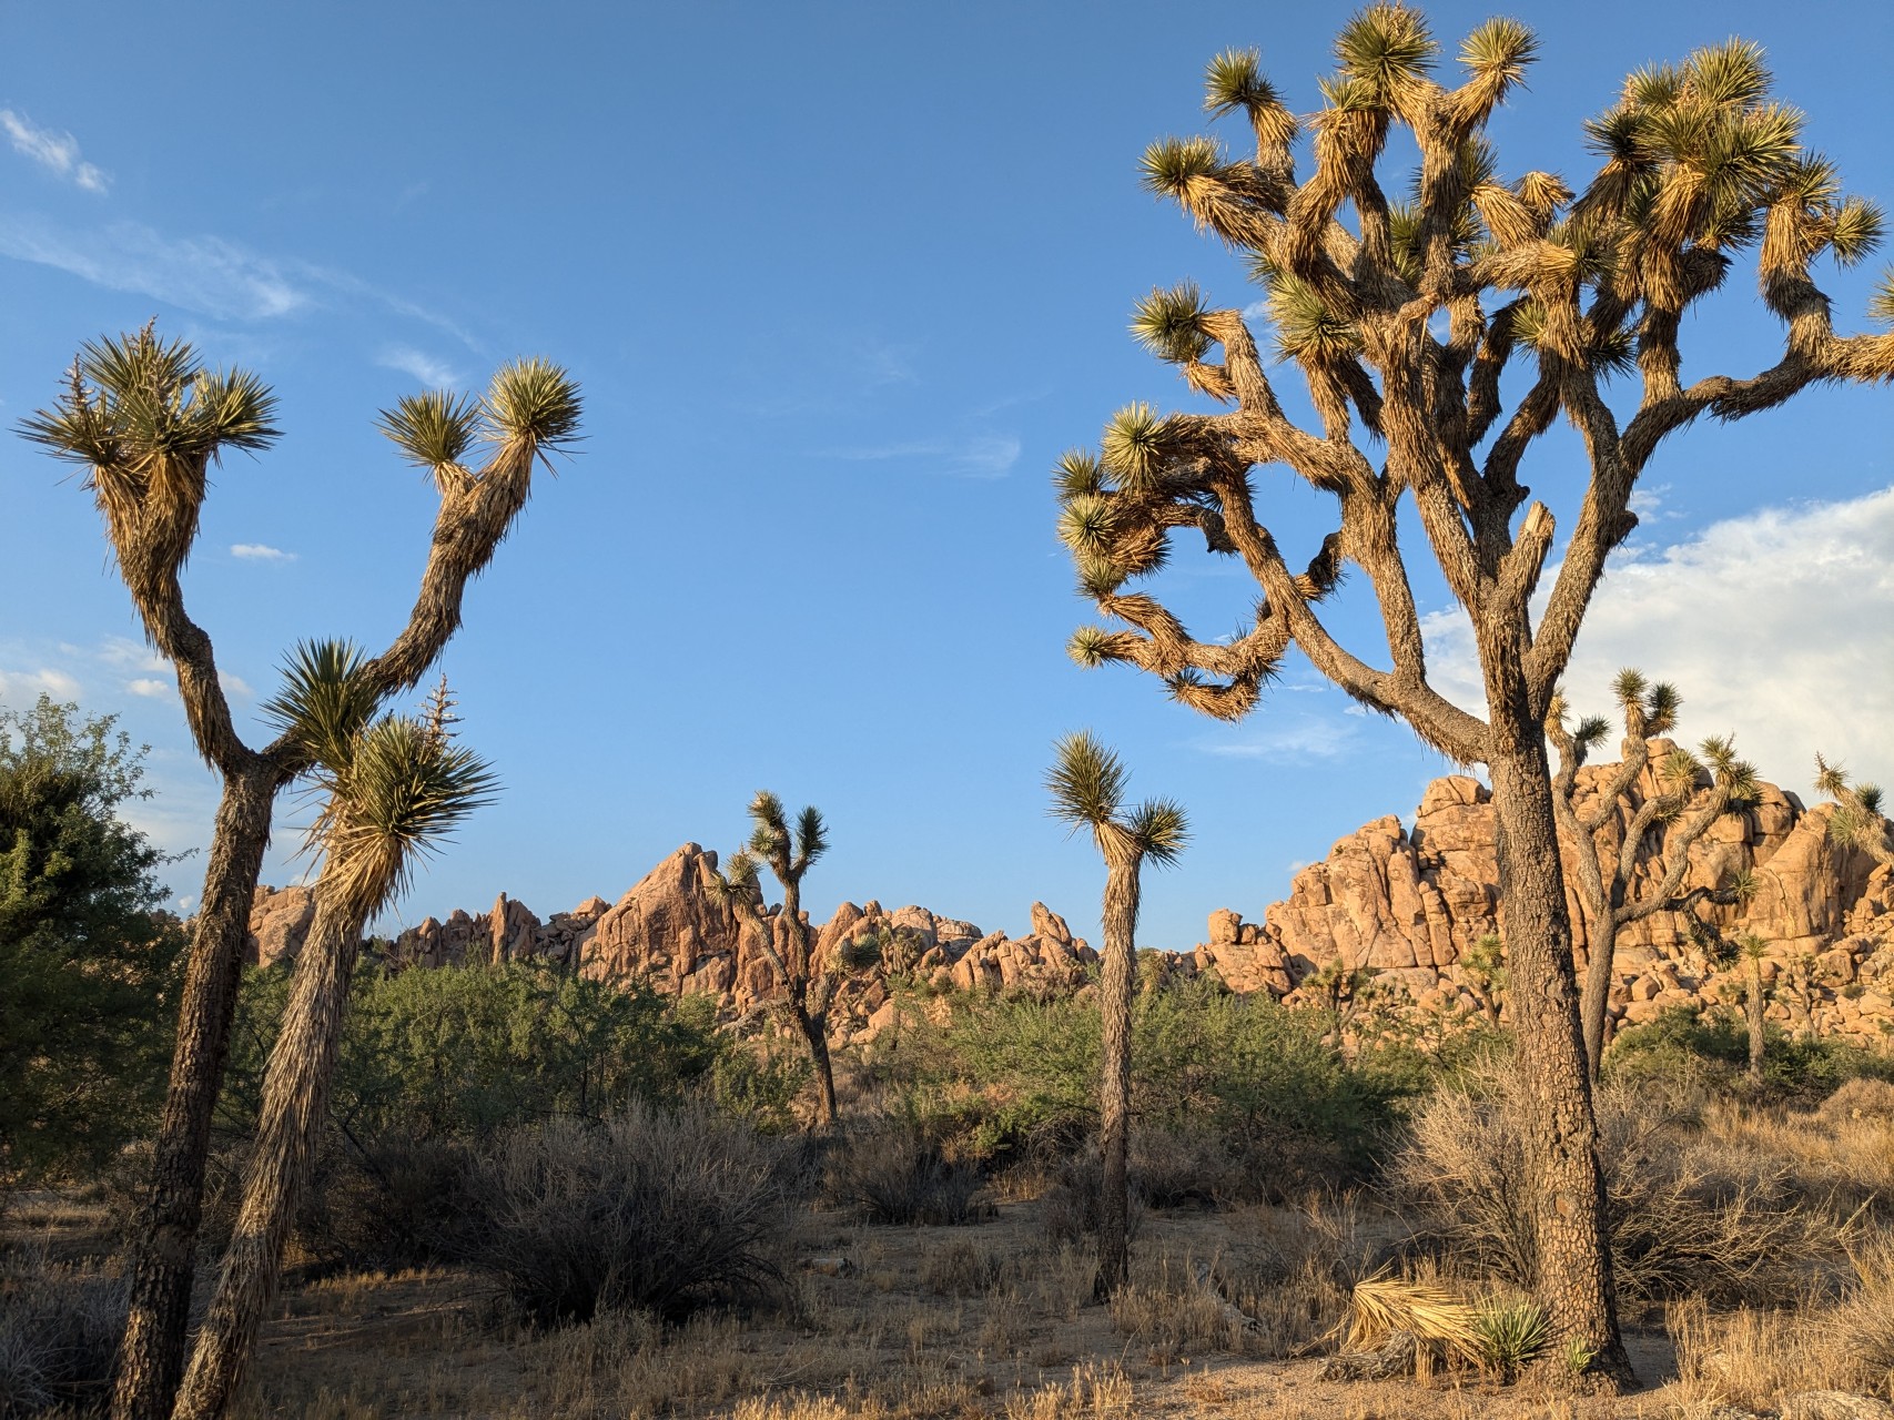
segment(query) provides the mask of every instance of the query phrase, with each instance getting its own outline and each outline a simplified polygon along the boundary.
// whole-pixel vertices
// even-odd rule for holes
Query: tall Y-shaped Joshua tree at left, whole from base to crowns
[[[205,763],[223,782],[205,888],[191,930],[170,1087],[129,1255],[131,1312],[117,1359],[114,1420],[165,1420],[184,1371],[210,1117],[223,1081],[250,901],[277,795],[313,761],[290,735],[261,750],[237,735],[216,651],[178,579],[197,538],[206,473],[225,451],[277,441],[275,396],[246,371],[210,373],[182,341],[148,326],[87,345],[59,401],[23,432],[87,470],[119,576],[178,693]],[[381,417],[402,454],[439,490],[434,541],[407,625],[362,666],[379,704],[413,689],[460,627],[470,577],[492,559],[527,504],[534,466],[580,424],[578,386],[527,360],[494,375],[481,399],[422,394]],[[470,456],[485,443],[485,458]]]

